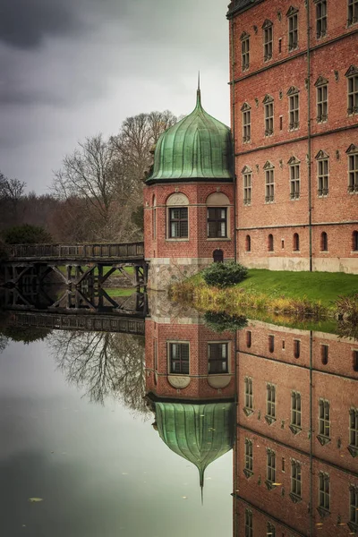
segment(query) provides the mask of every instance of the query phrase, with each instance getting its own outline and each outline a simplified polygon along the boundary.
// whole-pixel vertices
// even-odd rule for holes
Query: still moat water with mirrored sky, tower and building
[[[251,320],[218,332],[163,296],[143,323],[145,337],[3,322],[0,535],[354,534],[358,341]],[[187,388],[183,347],[169,374],[177,342]]]

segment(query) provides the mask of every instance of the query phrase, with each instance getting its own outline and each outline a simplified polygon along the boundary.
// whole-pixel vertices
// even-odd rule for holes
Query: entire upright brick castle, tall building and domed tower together
[[[198,102],[144,189],[149,282],[215,259],[358,273],[358,2],[233,0],[230,130]]]

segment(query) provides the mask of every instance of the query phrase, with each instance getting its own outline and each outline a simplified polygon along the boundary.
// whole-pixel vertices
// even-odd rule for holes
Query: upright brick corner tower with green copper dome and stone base
[[[144,188],[150,288],[234,259],[232,147],[230,129],[205,112],[199,89],[192,113],[159,137]]]

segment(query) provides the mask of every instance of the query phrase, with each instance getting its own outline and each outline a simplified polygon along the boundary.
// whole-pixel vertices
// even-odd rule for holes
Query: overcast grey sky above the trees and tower
[[[1,0],[0,170],[47,192],[77,141],[195,106],[229,123],[227,0]]]

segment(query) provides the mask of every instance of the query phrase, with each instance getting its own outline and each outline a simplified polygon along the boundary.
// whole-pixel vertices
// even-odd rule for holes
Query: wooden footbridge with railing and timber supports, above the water
[[[116,270],[128,277],[126,266],[133,267],[133,286],[147,285],[144,243],[14,244],[4,262],[5,284],[42,281],[54,271],[67,286],[101,287]]]

